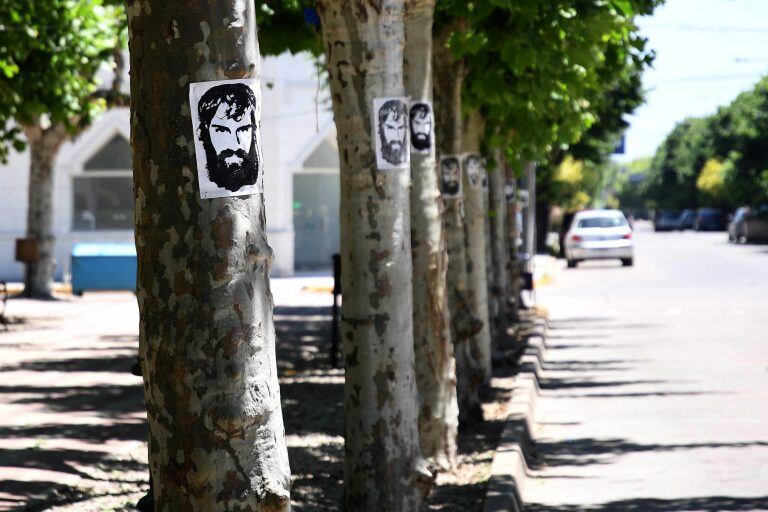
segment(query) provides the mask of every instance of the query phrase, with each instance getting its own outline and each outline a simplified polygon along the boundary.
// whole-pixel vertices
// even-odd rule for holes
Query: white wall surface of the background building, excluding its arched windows
[[[265,58],[262,61],[262,146],[267,236],[275,254],[273,275],[291,275],[294,269],[293,172],[298,155],[316,137],[317,126],[332,117],[316,115],[318,76],[306,55]],[[133,242],[131,231],[73,231],[72,183],[82,165],[115,133],[128,137],[127,109],[105,113],[78,139],[65,143],[55,163],[54,230],[56,279],[69,272],[69,255],[79,242]],[[0,280],[22,281],[24,267],[14,261],[15,239],[26,231],[29,154],[13,153],[0,166]]]

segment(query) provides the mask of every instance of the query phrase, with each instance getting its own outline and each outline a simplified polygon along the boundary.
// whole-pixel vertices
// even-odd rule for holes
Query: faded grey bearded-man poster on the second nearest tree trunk
[[[373,124],[376,167],[379,170],[407,168],[411,164],[408,98],[375,98]]]

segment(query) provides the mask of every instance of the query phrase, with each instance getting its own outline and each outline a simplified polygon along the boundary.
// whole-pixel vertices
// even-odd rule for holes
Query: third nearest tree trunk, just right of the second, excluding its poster
[[[432,103],[434,8],[435,0],[408,0],[405,6],[405,91],[412,102]],[[434,116],[431,122],[434,131]],[[411,154],[413,341],[421,453],[438,467],[453,468],[459,408],[446,293],[444,205],[435,154],[434,141],[427,153]]]

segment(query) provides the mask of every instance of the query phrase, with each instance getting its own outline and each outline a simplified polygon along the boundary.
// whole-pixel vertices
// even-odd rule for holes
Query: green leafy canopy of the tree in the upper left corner
[[[124,41],[122,7],[103,0],[0,4],[0,158],[25,125],[87,126],[107,103],[97,74]]]

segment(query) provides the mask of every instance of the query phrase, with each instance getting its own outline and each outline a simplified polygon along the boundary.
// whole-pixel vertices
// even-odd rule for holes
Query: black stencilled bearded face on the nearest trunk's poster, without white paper
[[[244,83],[216,85],[200,98],[197,136],[208,179],[216,186],[237,192],[258,181],[257,113],[256,94]]]

